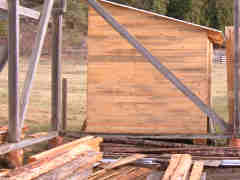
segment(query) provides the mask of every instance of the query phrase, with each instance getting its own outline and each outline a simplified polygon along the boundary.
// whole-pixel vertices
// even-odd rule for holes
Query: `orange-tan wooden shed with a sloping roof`
[[[120,24],[206,104],[222,32],[105,0]],[[207,117],[89,8],[87,132],[207,133]]]

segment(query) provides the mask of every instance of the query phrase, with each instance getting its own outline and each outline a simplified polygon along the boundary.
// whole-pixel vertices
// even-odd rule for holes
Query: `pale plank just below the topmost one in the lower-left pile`
[[[52,160],[45,160],[45,162],[37,161],[26,165],[25,167],[16,169],[15,171],[9,173],[9,180],[31,180],[41,174],[47,173],[57,167],[60,167],[82,155],[92,151],[92,148],[87,145],[78,145],[71,151],[64,153]]]

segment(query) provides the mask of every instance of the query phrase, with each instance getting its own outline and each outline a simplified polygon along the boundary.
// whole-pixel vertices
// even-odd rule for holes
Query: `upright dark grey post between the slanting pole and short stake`
[[[58,7],[61,6],[58,4]],[[62,20],[63,14],[54,10],[52,39],[52,130],[60,130],[62,112]]]

